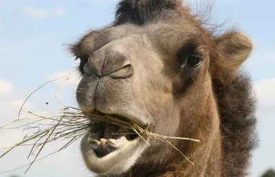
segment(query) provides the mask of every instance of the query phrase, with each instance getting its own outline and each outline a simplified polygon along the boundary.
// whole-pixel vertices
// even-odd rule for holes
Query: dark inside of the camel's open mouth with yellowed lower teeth
[[[102,112],[96,110],[98,114],[106,115]],[[119,115],[111,115],[122,121],[129,122],[128,118]],[[111,123],[93,123],[91,122],[91,127],[89,131],[89,137],[87,138],[88,144],[98,158],[107,156],[111,152],[118,150],[127,143],[136,140],[139,136],[129,128],[119,127]]]

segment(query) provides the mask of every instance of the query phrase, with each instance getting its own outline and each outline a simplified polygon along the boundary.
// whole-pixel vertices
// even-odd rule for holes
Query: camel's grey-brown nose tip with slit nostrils
[[[98,76],[111,76],[115,79],[129,77],[132,73],[126,54],[115,48],[102,48],[94,52],[89,57],[88,64],[90,74],[93,72]]]

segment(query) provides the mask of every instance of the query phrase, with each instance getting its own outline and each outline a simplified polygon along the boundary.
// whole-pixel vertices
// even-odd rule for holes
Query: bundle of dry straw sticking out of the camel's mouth
[[[69,76],[71,76],[71,74],[69,74],[67,76],[63,76],[61,78],[58,78],[58,79],[63,79],[66,77],[66,80],[63,82],[61,87],[59,87],[58,89],[61,89],[65,86],[65,82],[68,81]],[[58,79],[48,81],[47,83],[57,81]],[[41,85],[39,88],[34,90],[34,92],[39,90],[41,87],[43,87],[47,83],[44,83],[43,85]],[[32,94],[34,94],[34,92],[32,92],[28,96],[28,98],[30,98],[30,96],[32,96]],[[117,117],[111,116],[111,115],[103,115],[103,114],[99,114],[97,112],[83,113],[82,110],[80,110],[77,107],[65,105],[64,103],[59,101],[58,98],[56,98],[56,101],[58,101],[58,103],[60,103],[63,106],[63,109],[61,110],[61,112],[34,113],[31,111],[25,110],[23,108],[23,105],[26,103],[26,101],[28,101],[28,98],[25,99],[25,101],[23,102],[21,107],[16,105],[20,109],[17,120],[12,121],[11,123],[8,123],[8,124],[0,127],[0,129],[19,129],[19,128],[23,128],[23,129],[37,128],[38,129],[33,134],[31,134],[29,136],[25,136],[25,138],[19,143],[16,143],[10,147],[0,147],[0,149],[8,149],[6,152],[4,152],[0,156],[0,158],[5,156],[6,154],[8,154],[15,147],[19,147],[19,146],[31,146],[32,147],[28,158],[32,155],[32,153],[36,149],[39,149],[38,153],[35,155],[34,160],[32,160],[32,162],[29,164],[28,169],[25,172],[27,172],[30,169],[30,167],[32,167],[34,162],[41,159],[41,158],[39,159],[38,156],[39,156],[39,154],[41,154],[42,149],[45,147],[45,145],[47,143],[50,143],[54,140],[67,140],[67,143],[65,143],[65,145],[63,145],[63,147],[58,149],[58,151],[56,151],[56,152],[59,152],[62,149],[65,149],[69,145],[74,143],[74,141],[76,141],[76,140],[80,139],[82,136],[84,136],[87,133],[87,131],[89,131],[89,127],[91,126],[91,123],[108,123],[108,124],[118,125],[119,127],[122,127],[125,129],[129,129],[130,131],[133,132],[131,134],[137,134],[137,136],[139,136],[142,140],[144,140],[144,142],[146,142],[147,145],[150,145],[148,143],[148,140],[150,138],[161,140],[162,142],[167,143],[168,145],[171,145],[182,156],[184,156],[184,154],[182,152],[180,152],[180,150],[177,149],[177,147],[175,147],[173,145],[173,143],[170,143],[170,141],[168,139],[190,140],[190,141],[193,141],[196,143],[200,142],[200,140],[197,140],[195,138],[171,137],[171,136],[164,136],[164,135],[148,132],[148,129],[140,127],[139,125],[137,125],[131,121],[124,121],[121,118],[117,118]],[[21,111],[27,112],[30,115],[20,118]],[[51,114],[51,116],[45,116],[45,114]],[[45,123],[44,121],[52,121],[52,123]],[[23,125],[16,126],[16,127],[10,127],[10,128],[8,127],[8,126],[13,125],[14,123],[17,123],[17,122],[23,123]],[[45,140],[43,140],[43,139],[45,139]],[[29,143],[31,140],[35,140],[35,142]],[[56,153],[56,152],[54,152],[54,153]],[[52,154],[54,154],[54,153],[52,153]],[[45,157],[47,157],[47,156],[45,156]],[[186,156],[184,156],[184,158],[186,158],[186,160],[188,160],[188,162],[190,162],[192,165],[194,165]],[[21,166],[21,167],[25,167],[25,166]]]

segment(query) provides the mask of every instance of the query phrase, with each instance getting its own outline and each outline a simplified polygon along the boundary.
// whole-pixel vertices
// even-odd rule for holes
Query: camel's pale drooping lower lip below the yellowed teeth
[[[86,134],[81,143],[81,153],[85,160],[87,167],[94,171],[97,174],[101,175],[109,175],[113,174],[113,170],[115,170],[115,174],[120,174],[124,172],[126,169],[129,169],[138,158],[140,158],[142,152],[148,147],[146,143],[140,140],[140,138],[135,138],[134,140],[126,140],[126,138],[122,138],[122,140],[117,140],[117,149],[102,154],[102,157],[98,156],[97,152],[94,150],[96,148],[100,148],[100,145],[96,145],[92,147],[89,143],[89,137],[91,134]],[[103,143],[106,143],[103,140]],[[124,143],[124,141],[126,143]],[[101,140],[100,140],[101,143]],[[121,145],[118,145],[121,143]],[[115,145],[109,146],[115,147]]]

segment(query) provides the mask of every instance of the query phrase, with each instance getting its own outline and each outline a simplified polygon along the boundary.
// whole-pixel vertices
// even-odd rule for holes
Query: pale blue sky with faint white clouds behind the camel
[[[201,0],[203,1],[203,0]],[[195,1],[190,1],[195,4]],[[67,50],[91,29],[108,25],[114,17],[116,0],[0,0],[0,125],[17,118],[23,100],[37,87],[74,72],[77,61]],[[256,115],[261,144],[253,153],[251,177],[259,177],[268,168],[275,168],[275,17],[274,0],[216,0],[213,20],[236,26],[254,41],[254,51],[243,65],[250,72],[254,92],[259,100]],[[56,90],[63,81],[56,81],[36,92],[25,109],[51,112],[61,109],[57,96],[67,105],[77,105],[77,74],[70,77],[63,90]],[[45,102],[49,103],[46,105]],[[0,129],[0,148],[17,143],[25,136],[19,129]],[[48,145],[42,156],[56,151],[60,143]],[[30,163],[30,148],[14,149],[0,159],[0,176],[10,177],[89,177],[79,151],[79,142],[67,149],[27,167],[1,174]],[[0,149],[0,154],[4,152]],[[39,175],[38,175],[39,174]]]

